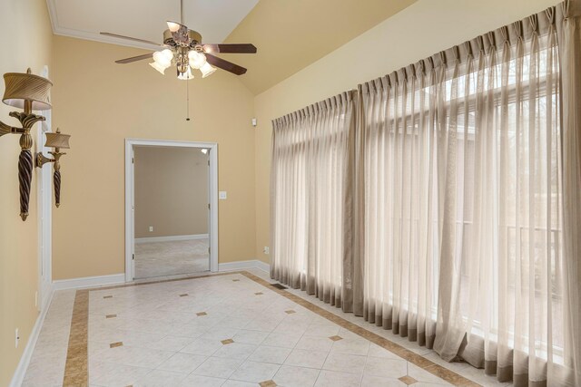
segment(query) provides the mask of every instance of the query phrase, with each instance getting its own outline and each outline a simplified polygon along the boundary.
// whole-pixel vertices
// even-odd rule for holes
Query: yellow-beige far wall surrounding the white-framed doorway
[[[54,126],[70,133],[62,163],[62,204],[54,211],[54,279],[124,272],[124,140],[218,143],[219,261],[253,259],[253,97],[230,73],[186,84],[146,61],[115,64],[143,53],[113,44],[54,37]]]

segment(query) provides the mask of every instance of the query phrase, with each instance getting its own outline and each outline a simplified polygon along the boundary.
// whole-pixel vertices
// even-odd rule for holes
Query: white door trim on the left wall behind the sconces
[[[48,78],[48,66],[44,66],[41,74]],[[50,148],[44,147],[46,137],[44,133],[51,131],[52,113],[50,110],[43,111],[44,121],[39,125],[36,135],[36,151],[45,155]],[[53,285],[53,164],[49,163],[44,168],[37,169],[36,173],[36,200],[38,211],[38,295],[37,309],[44,310],[50,299],[51,287]]]

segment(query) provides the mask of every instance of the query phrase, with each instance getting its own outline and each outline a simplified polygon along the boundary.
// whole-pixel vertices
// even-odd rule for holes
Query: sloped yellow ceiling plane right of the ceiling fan
[[[261,0],[226,39],[228,43],[251,42],[258,53],[224,58],[249,69],[241,82],[258,94],[415,2]],[[365,61],[365,53],[353,55]]]

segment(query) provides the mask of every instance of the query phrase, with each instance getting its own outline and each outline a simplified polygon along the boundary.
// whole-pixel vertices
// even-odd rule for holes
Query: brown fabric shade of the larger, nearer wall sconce
[[[25,101],[32,101],[33,111],[51,109],[48,92],[53,85],[46,78],[28,73],[5,73],[5,92],[2,102],[15,108],[24,109]]]

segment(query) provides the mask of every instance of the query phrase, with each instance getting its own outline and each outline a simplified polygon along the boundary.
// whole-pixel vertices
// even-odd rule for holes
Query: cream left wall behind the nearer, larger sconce
[[[0,2],[0,74],[24,73],[30,67],[40,74],[51,67],[53,33],[44,0],[2,0]],[[4,82],[1,92],[4,93]],[[0,103],[0,120],[19,126],[8,117],[19,111]],[[39,124],[32,131],[34,140]],[[36,178],[33,172],[30,216],[23,222],[18,214],[18,139],[9,134],[0,138],[0,385],[8,385],[25,349],[37,310],[34,293],[38,273],[38,213]],[[20,345],[15,348],[15,328],[20,329]]]

